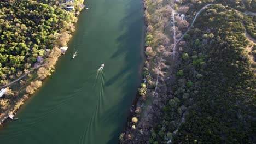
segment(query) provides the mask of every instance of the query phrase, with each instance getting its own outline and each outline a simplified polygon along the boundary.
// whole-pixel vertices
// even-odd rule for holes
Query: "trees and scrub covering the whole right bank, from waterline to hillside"
[[[234,10],[246,10],[241,1],[182,1],[177,6],[154,2],[145,2],[149,26],[143,76],[145,80],[150,76],[155,85],[150,89],[146,82],[146,100],[131,109],[138,122],[130,120],[120,143],[255,143],[255,62],[247,52],[255,45],[245,35],[247,31],[254,37],[253,16]],[[219,4],[202,10],[177,43],[175,55],[175,41],[166,33],[171,32],[170,23],[162,25],[159,5],[187,7],[185,15],[191,23],[194,12],[211,2]],[[154,13],[159,23],[152,23]],[[178,29],[188,27],[176,22]],[[180,31],[176,30],[180,35],[186,30]],[[166,37],[156,32],[164,33],[168,43],[158,41]],[[161,47],[171,55],[163,55]],[[170,56],[176,56],[174,62]]]

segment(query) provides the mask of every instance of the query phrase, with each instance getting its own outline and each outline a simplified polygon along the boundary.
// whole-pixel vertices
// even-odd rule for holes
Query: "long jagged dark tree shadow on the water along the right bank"
[[[120,31],[124,28],[126,28],[126,31],[117,38],[119,43],[118,50],[110,57],[111,59],[117,59],[119,56],[123,56],[125,57],[126,65],[124,65],[125,67],[123,67],[118,74],[115,74],[106,82],[106,86],[112,85],[117,79],[124,76],[124,74],[127,74],[127,76],[122,84],[123,86],[119,86],[123,88],[123,99],[121,99],[117,105],[112,106],[108,111],[106,111],[104,116],[108,117],[103,117],[101,120],[102,123],[106,125],[111,123],[120,123],[120,121],[124,122],[122,125],[118,125],[112,134],[110,134],[111,137],[109,137],[109,141],[107,142],[108,144],[118,142],[118,137],[126,123],[125,120],[130,109],[130,105],[136,95],[139,82],[141,81],[141,67],[144,59],[144,55],[142,53],[142,46],[144,46],[144,44],[141,44],[144,43],[142,37],[144,34],[143,5],[142,1],[139,1],[138,4],[134,3],[134,1],[130,1],[129,4],[127,4],[129,5],[129,7],[127,7],[128,15],[121,20],[119,27]],[[139,6],[135,7],[135,5]],[[138,51],[138,49],[141,50]],[[135,52],[140,52],[141,54],[135,55]],[[132,80],[134,82],[131,82],[129,85],[129,83],[126,83],[125,81],[129,81],[131,78],[133,78]],[[122,79],[124,79],[124,77],[122,77]],[[126,87],[131,87],[134,91],[127,93],[125,90]],[[121,112],[120,109],[122,109]]]

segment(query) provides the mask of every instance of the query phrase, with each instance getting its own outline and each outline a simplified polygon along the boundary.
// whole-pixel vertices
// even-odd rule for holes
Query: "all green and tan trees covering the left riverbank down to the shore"
[[[77,17],[73,11],[60,8],[60,2],[0,2],[0,87],[22,75],[28,77],[8,87],[0,99],[2,114],[42,85],[40,80],[50,75],[61,55],[60,47],[71,38]],[[75,0],[74,5],[82,2]]]

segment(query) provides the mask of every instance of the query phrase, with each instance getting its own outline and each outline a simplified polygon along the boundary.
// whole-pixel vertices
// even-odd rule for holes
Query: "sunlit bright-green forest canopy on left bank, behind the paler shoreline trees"
[[[13,0],[1,1],[0,9],[0,86],[33,67],[38,56],[62,46],[65,34],[60,33],[74,31],[74,14],[55,5]]]

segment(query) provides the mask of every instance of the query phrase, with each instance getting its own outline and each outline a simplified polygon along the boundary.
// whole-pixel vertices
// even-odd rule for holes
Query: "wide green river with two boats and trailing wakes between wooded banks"
[[[66,55],[19,120],[4,123],[1,143],[118,143],[141,81],[142,1],[85,3]]]

